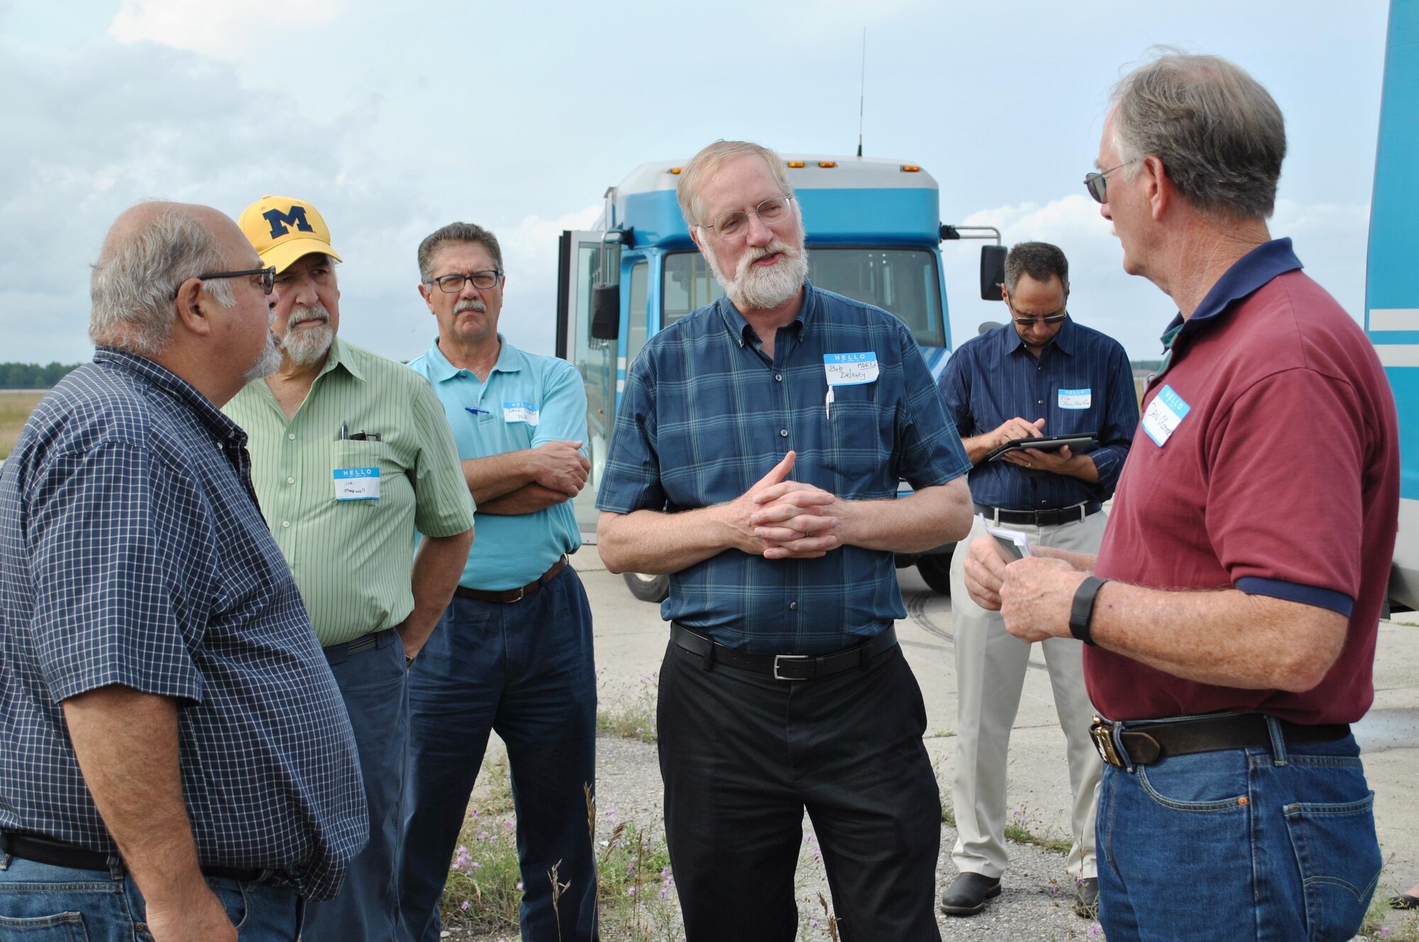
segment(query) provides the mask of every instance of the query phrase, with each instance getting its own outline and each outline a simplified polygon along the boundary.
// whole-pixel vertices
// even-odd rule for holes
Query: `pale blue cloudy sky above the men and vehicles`
[[[341,268],[342,335],[399,359],[434,323],[414,248],[482,223],[508,268],[502,329],[552,352],[556,237],[639,163],[715,138],[857,145],[922,165],[942,221],[1059,243],[1070,308],[1134,358],[1174,308],[1128,278],[1080,180],[1107,94],[1155,44],[1226,55],[1287,118],[1274,234],[1357,318],[1379,112],[1382,0],[542,3],[0,0],[0,360],[87,359],[88,264],[128,204],[236,216],[314,203]],[[946,244],[956,338],[973,244]]]

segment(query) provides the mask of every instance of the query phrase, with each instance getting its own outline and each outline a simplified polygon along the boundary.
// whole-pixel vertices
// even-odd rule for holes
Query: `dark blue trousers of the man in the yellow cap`
[[[399,919],[400,826],[409,758],[409,699],[404,645],[389,628],[373,647],[350,654],[349,644],[325,648],[355,729],[359,770],[369,799],[369,844],[345,872],[333,899],[305,909],[304,942],[403,942]]]

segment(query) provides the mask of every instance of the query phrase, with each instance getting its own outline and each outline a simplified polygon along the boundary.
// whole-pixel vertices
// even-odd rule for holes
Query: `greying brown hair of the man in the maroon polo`
[[[1270,92],[1216,55],[1168,52],[1125,75],[1112,94],[1121,173],[1162,160],[1178,193],[1203,213],[1267,218],[1286,157],[1286,121]],[[1107,169],[1107,167],[1103,167]]]

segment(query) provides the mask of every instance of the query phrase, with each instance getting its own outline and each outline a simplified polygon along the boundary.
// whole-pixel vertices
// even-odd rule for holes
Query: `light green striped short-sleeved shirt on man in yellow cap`
[[[473,526],[473,498],[429,380],[335,338],[291,421],[264,380],[223,411],[251,438],[261,512],[321,644],[403,621],[414,609],[414,528],[453,536]],[[342,428],[366,440],[342,438]],[[379,468],[379,499],[338,501],[345,468]]]

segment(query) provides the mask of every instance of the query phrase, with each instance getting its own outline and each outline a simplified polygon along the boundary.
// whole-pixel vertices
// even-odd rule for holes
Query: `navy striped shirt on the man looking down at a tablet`
[[[962,343],[937,382],[946,414],[962,438],[999,428],[1010,419],[1044,419],[1042,434],[1087,433],[1098,438],[1087,453],[1098,484],[982,461],[971,471],[976,504],[1012,511],[1107,501],[1138,428],[1138,397],[1128,355],[1118,340],[1066,318],[1036,360],[1015,325],[1005,323]]]

